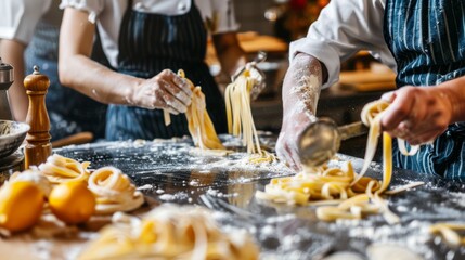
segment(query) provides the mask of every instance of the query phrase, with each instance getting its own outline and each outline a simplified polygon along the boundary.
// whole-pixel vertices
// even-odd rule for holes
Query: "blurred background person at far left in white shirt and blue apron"
[[[15,74],[9,89],[12,113],[15,120],[26,119],[28,100],[23,79],[37,65],[50,79],[46,105],[51,140],[83,131],[91,132],[94,139],[103,139],[105,126],[94,121],[105,121],[106,105],[59,82],[59,32],[63,15],[59,4],[60,0],[0,1],[0,16],[3,17],[0,20],[0,55],[12,64]],[[93,58],[98,57],[96,50]]]

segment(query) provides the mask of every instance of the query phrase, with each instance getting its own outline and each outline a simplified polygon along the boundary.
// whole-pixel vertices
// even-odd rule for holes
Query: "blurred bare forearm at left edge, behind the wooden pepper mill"
[[[28,108],[28,98],[23,86],[25,77],[24,50],[26,46],[15,40],[1,40],[0,56],[4,63],[11,64],[14,72],[14,82],[9,88],[11,110],[17,121],[25,121]]]

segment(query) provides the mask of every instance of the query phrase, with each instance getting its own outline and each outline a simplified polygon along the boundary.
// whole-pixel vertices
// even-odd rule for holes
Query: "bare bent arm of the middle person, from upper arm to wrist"
[[[88,13],[67,8],[60,31],[59,76],[73,88],[106,104],[133,104],[142,79],[113,72],[90,58],[95,25]]]

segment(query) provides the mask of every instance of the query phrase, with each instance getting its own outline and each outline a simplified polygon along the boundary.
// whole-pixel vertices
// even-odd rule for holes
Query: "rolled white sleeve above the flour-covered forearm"
[[[310,54],[327,68],[323,88],[339,80],[340,63],[359,52],[386,54],[383,35],[385,0],[332,0],[314,22],[306,38],[290,43],[289,58]]]

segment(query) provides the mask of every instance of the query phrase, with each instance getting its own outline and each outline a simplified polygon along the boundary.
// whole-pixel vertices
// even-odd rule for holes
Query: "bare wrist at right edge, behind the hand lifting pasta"
[[[437,87],[451,104],[451,121],[465,121],[465,76],[447,81]]]

